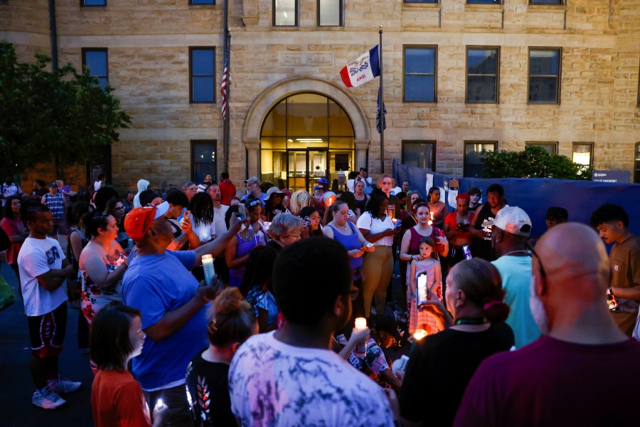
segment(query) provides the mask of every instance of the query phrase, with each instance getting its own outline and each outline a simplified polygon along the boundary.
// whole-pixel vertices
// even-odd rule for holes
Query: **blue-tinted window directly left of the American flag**
[[[189,48],[190,102],[215,102],[215,48]]]

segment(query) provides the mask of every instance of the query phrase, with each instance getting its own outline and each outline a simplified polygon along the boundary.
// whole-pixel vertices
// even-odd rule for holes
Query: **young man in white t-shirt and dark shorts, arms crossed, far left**
[[[29,204],[23,218],[30,234],[18,254],[18,268],[31,337],[29,369],[36,385],[32,403],[55,409],[65,404],[60,393],[82,385],[58,375],[58,355],[67,327],[67,295],[62,285],[73,273],[73,265],[65,259],[60,243],[47,237],[53,231],[53,216],[46,205]]]

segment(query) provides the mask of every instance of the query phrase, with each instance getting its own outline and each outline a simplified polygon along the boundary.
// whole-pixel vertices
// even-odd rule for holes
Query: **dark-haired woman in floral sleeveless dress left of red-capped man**
[[[78,260],[82,274],[82,313],[91,325],[106,305],[122,304],[122,276],[129,258],[116,238],[116,219],[109,214],[94,216],[87,224],[91,240]]]

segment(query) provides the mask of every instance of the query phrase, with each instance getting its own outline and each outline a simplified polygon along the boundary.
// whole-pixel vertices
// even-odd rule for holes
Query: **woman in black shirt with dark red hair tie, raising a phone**
[[[423,306],[437,317],[442,332],[421,339],[411,353],[400,392],[403,426],[451,426],[481,362],[515,342],[504,322],[509,306],[494,265],[463,260],[449,271],[447,282],[447,307],[431,292]]]

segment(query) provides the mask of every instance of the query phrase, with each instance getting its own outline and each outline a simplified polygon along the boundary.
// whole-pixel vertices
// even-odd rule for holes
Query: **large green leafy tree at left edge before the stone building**
[[[36,162],[84,163],[93,149],[119,140],[131,120],[107,86],[87,69],[67,64],[47,70],[50,58],[18,63],[11,43],[0,41],[0,172],[15,174]]]

